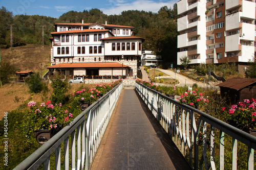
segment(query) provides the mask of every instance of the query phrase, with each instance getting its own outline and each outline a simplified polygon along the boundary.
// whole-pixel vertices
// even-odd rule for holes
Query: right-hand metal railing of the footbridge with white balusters
[[[199,156],[198,153],[198,135],[200,133],[201,125],[209,124],[212,128],[210,128],[210,147],[214,147],[215,140],[214,136],[212,139],[212,133],[214,134],[214,129],[219,129],[220,132],[226,134],[233,138],[232,147],[237,147],[236,140],[241,141],[246,144],[248,147],[248,169],[253,169],[253,152],[256,150],[256,137],[252,136],[240,129],[237,129],[227,123],[222,122],[218,118],[212,117],[196,108],[190,107],[185,104],[180,104],[178,101],[165,96],[143,84],[136,82],[136,90],[141,96],[142,100],[146,103],[148,108],[152,111],[152,114],[157,118],[159,123],[162,125],[163,129],[173,138],[177,148],[185,157],[186,154],[189,154],[189,164],[193,166],[192,162],[194,159],[194,169],[202,168],[203,163],[207,163],[206,150],[205,145],[200,146],[203,150],[203,155]],[[198,123],[195,121],[195,114],[199,114]],[[202,124],[203,123],[203,124]],[[190,129],[191,128],[191,129]],[[206,128],[203,126],[203,128]],[[202,129],[202,128],[201,128]],[[203,131],[205,131],[204,129]],[[190,132],[191,131],[191,132]],[[206,131],[203,133],[203,140],[206,140]],[[222,134],[223,135],[223,134]],[[224,135],[222,136],[222,140],[224,141]],[[221,140],[221,139],[220,139]],[[203,142],[204,143],[204,142]],[[221,143],[221,142],[220,142]],[[206,144],[206,142],[205,142]],[[220,156],[222,155],[222,159],[220,158],[220,166],[224,168],[224,143]],[[188,149],[187,149],[188,148]],[[193,151],[194,148],[194,151]],[[211,151],[214,149],[211,148]],[[193,152],[193,153],[192,153]],[[232,167],[236,167],[236,149],[234,149],[232,159]],[[204,164],[205,167],[211,166],[212,169],[215,169],[214,162],[214,152],[210,153],[210,164]],[[201,160],[199,160],[201,159]],[[199,163],[200,162],[200,163]],[[209,162],[208,162],[209,163]]]

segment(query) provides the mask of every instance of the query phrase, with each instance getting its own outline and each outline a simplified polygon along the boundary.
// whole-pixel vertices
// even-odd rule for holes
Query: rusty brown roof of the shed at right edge
[[[223,83],[217,84],[217,86],[240,90],[249,85],[252,85],[253,83],[256,83],[256,79],[245,79],[245,78],[236,77],[236,78],[229,79]]]

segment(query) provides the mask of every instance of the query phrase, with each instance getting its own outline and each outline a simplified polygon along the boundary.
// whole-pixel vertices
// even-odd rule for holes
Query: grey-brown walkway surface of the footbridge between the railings
[[[124,88],[91,169],[190,169],[134,88]]]

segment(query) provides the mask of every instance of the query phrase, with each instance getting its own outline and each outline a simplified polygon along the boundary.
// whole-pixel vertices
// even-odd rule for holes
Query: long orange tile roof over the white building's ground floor
[[[116,67],[129,67],[120,63],[60,63],[48,66],[47,68],[116,68]]]

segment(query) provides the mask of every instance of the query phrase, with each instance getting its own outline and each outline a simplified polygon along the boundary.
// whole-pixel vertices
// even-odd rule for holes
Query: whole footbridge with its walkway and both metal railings
[[[256,137],[144,85],[120,83],[15,169],[237,169],[241,144],[254,169]]]

